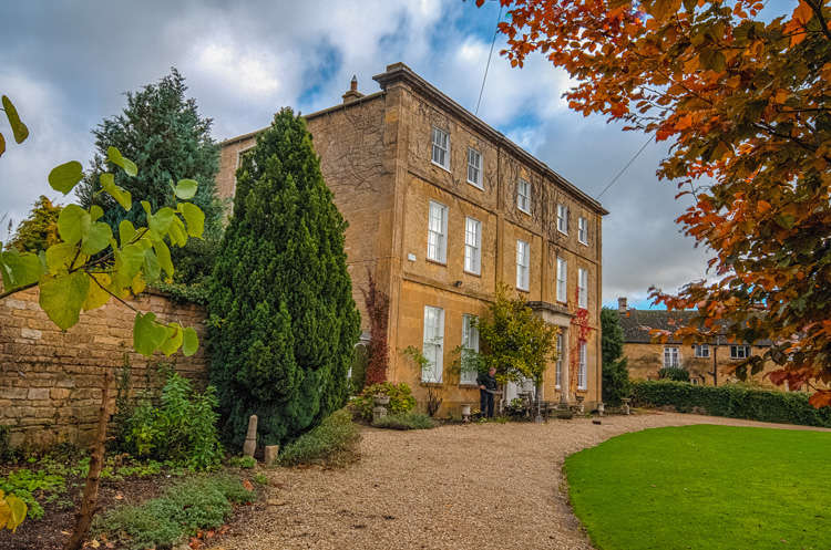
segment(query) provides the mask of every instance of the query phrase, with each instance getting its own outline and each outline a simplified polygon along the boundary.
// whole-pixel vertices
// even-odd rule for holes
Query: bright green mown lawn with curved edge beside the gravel
[[[646,429],[565,461],[601,550],[831,549],[831,433]]]

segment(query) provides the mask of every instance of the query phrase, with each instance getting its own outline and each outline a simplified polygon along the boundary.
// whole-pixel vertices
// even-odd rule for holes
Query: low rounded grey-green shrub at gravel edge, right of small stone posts
[[[352,415],[341,408],[319,426],[286,445],[285,449],[280,449],[277,464],[345,466],[358,458],[359,442],[360,430],[352,422]]]

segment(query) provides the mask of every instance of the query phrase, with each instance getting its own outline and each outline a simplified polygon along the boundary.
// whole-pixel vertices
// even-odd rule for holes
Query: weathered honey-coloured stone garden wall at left
[[[115,299],[81,312],[81,321],[65,332],[49,320],[38,299],[35,288],[0,300],[0,426],[8,427],[11,445],[91,443],[107,369],[115,370],[117,384],[124,365],[130,366],[131,395],[160,386],[161,363],[174,363],[198,390],[207,385],[204,307],[178,304],[153,291],[126,300],[162,321],[194,326],[199,335],[199,351],[191,357],[156,352],[148,360],[133,351],[135,312]]]

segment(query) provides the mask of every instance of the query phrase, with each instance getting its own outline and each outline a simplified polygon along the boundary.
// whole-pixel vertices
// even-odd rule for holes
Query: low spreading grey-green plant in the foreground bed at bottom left
[[[96,519],[94,530],[132,550],[170,548],[199,529],[222,526],[232,512],[232,502],[254,498],[237,477],[193,477],[171,486],[160,498],[123,506]]]

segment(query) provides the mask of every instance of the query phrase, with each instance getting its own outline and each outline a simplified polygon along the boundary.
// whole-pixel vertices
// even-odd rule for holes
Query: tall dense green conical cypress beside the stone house
[[[252,414],[273,445],[346,404],[360,331],[346,227],[306,122],[281,110],[237,170],[209,291],[211,376],[232,446]]]

